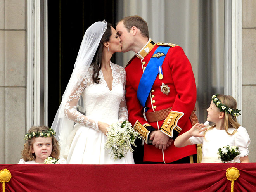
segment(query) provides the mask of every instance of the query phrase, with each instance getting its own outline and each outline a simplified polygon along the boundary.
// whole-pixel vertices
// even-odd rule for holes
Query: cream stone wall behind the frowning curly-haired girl
[[[0,163],[17,163],[26,127],[26,0],[0,0],[0,98]]]

